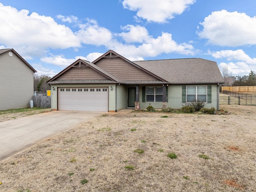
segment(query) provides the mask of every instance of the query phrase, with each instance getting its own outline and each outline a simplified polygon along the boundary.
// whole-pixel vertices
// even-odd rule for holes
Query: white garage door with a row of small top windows
[[[58,110],[108,112],[108,88],[58,88]]]

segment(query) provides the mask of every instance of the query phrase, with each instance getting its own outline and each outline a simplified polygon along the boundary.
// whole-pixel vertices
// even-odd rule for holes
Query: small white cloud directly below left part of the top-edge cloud
[[[151,36],[148,35],[148,30],[142,26],[134,26],[134,25],[126,25],[121,27],[124,31],[129,32],[122,32],[119,35],[125,40],[125,42],[146,42],[148,41]]]

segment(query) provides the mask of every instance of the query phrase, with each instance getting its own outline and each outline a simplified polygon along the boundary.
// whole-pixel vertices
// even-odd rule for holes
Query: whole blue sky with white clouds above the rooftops
[[[255,0],[0,0],[0,49],[54,76],[108,50],[129,60],[204,58],[256,72]]]

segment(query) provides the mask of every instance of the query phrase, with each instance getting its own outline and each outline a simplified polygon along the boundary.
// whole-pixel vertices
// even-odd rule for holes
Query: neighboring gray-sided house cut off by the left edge
[[[14,49],[0,50],[0,110],[30,106],[35,72]]]

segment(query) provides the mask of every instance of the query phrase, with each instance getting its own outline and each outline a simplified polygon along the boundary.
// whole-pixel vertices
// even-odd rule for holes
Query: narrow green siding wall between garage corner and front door
[[[125,109],[127,108],[127,88],[123,85],[116,86],[116,92],[117,92],[117,110]]]

